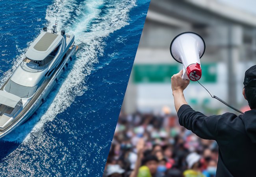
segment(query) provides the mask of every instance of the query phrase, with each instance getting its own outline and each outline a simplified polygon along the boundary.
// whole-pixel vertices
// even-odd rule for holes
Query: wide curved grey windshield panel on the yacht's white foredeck
[[[7,82],[4,89],[14,95],[19,96],[20,98],[30,98],[35,93],[37,86],[34,87],[26,87],[23,85],[19,85],[13,82],[11,79]]]

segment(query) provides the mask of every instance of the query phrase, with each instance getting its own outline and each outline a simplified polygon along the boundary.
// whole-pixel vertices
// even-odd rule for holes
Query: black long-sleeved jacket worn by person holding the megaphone
[[[189,105],[178,110],[180,125],[203,139],[216,140],[219,160],[216,177],[256,176],[256,110],[205,116]]]

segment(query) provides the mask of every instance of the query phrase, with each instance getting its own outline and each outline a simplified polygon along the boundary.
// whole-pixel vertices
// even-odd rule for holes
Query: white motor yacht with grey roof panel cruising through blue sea
[[[46,100],[78,46],[74,35],[43,28],[0,89],[0,138],[27,120]]]

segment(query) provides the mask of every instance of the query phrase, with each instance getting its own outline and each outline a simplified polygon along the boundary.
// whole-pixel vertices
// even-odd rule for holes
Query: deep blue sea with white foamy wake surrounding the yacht
[[[46,102],[0,140],[0,176],[102,176],[150,0],[0,0],[0,83],[42,26],[79,50]]]

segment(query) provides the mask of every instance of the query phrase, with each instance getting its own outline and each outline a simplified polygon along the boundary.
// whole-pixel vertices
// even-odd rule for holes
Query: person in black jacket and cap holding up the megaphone
[[[182,70],[171,78],[174,105],[180,125],[219,145],[216,177],[256,177],[256,65],[245,72],[243,96],[251,108],[245,114],[205,116],[186,102],[183,90],[189,80]],[[235,95],[234,95],[235,96]]]

